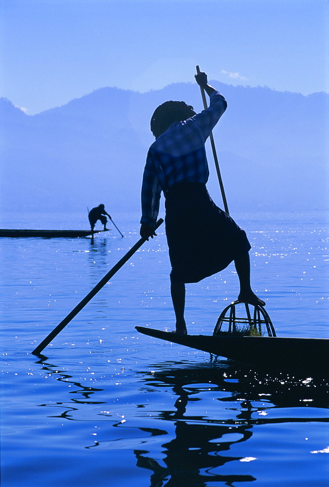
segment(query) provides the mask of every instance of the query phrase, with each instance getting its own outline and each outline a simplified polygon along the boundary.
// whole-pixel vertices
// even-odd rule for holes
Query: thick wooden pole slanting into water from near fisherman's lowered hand
[[[155,230],[163,223],[163,219],[160,218],[156,225],[155,225]],[[148,236],[149,237],[149,236]],[[117,262],[112,268],[111,270],[103,277],[103,279],[101,279],[98,284],[95,285],[95,287],[93,289],[91,289],[90,293],[87,294],[87,296],[85,298],[83,298],[82,301],[79,302],[79,304],[77,304],[75,306],[75,308],[71,311],[71,313],[69,313],[67,315],[66,318],[64,318],[55,328],[54,330],[37,346],[37,348],[34,349],[34,351],[32,352],[33,355],[40,355],[40,353],[42,352],[42,350],[47,346],[49,345],[49,343],[58,335],[58,333],[60,331],[63,330],[63,328],[65,328],[65,326],[72,320],[72,318],[74,318],[78,313],[79,311],[82,310],[82,308],[84,306],[86,306],[86,304],[91,300],[91,298],[93,298],[95,296],[95,294],[98,293],[98,291],[103,287],[105,286],[105,284],[109,281],[109,279],[114,276],[114,274],[123,266],[123,264],[125,262],[128,261],[128,259],[130,259],[130,257],[136,252],[136,250],[139,249],[139,247],[141,247],[144,242],[148,239],[148,237],[142,237],[133,247],[131,247],[130,250],[128,250],[127,254],[124,255],[122,257],[122,259],[120,259],[119,262]]]

